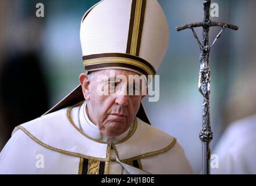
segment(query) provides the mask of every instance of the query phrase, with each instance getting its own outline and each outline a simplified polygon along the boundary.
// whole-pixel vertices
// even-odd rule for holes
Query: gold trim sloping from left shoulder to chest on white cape
[[[32,140],[37,142],[37,144],[39,144],[41,146],[44,146],[45,148],[51,149],[52,151],[65,153],[66,155],[76,156],[76,157],[79,157],[79,158],[99,160],[99,161],[102,161],[102,162],[106,161],[106,158],[95,158],[93,156],[86,156],[86,155],[82,155],[82,154],[77,153],[77,152],[65,151],[65,150],[62,150],[62,149],[55,148],[53,146],[49,146],[47,144],[44,144],[44,142],[41,142],[40,140],[38,140],[33,134],[31,134],[29,131],[27,131],[26,128],[24,128],[22,126],[18,126],[18,128],[20,128],[20,130],[22,130],[25,134],[27,134]]]

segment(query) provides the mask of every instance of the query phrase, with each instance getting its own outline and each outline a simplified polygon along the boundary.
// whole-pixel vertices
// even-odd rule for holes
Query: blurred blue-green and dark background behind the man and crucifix
[[[121,1],[121,0],[119,0]],[[10,117],[19,117],[15,111],[15,98],[27,109],[42,107],[37,114],[24,119],[34,119],[59,102],[79,84],[79,74],[84,70],[80,48],[80,20],[86,10],[98,1],[88,0],[0,0],[0,75],[3,83],[0,91],[9,88],[1,99],[0,113],[0,149],[10,137],[8,121]],[[177,32],[176,26],[200,22],[203,19],[202,1],[200,0],[159,0],[166,14],[170,29],[168,53],[158,69],[160,75],[160,99],[147,102],[145,108],[151,123],[166,133],[172,134],[183,146],[195,173],[201,172],[201,141],[198,134],[201,128],[202,96],[198,92],[198,70],[200,50],[190,30]],[[239,26],[239,31],[225,30],[211,51],[212,94],[211,124],[214,131],[214,148],[226,126],[237,119],[256,112],[256,17],[254,0],[214,0],[219,5],[219,17],[215,21],[227,22]],[[36,17],[37,3],[44,4],[44,16]],[[201,28],[196,28],[201,40]],[[211,29],[211,41],[220,28]],[[157,47],[157,46],[156,46]],[[6,62],[12,63],[20,55],[33,53],[39,64],[38,76],[42,77],[42,86],[47,91],[42,94],[45,101],[40,101],[40,92],[34,91],[37,74],[30,75],[34,69],[28,65],[26,73],[33,82],[23,80],[17,73],[6,71]],[[31,59],[31,58],[30,58]],[[33,63],[33,59],[31,60]],[[16,65],[15,65],[16,66]],[[16,66],[17,67],[17,66]],[[8,68],[7,68],[8,69]],[[12,78],[10,78],[12,77]],[[26,82],[24,82],[26,81]],[[8,84],[6,88],[6,84]],[[31,95],[26,93],[29,91]],[[10,93],[11,92],[11,93]],[[14,93],[12,93],[14,92]],[[24,93],[25,92],[25,93]],[[21,94],[22,95],[22,94]],[[8,97],[9,96],[9,97]],[[13,100],[12,103],[8,101]],[[11,115],[6,117],[5,108]],[[23,108],[23,106],[21,106]],[[17,113],[16,113],[17,112]],[[13,115],[12,115],[13,114]],[[19,120],[13,121],[15,123]],[[21,122],[21,121],[19,121]]]

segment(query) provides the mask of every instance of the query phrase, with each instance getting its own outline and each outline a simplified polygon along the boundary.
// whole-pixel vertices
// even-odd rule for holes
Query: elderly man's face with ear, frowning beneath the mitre
[[[130,78],[136,75],[140,76],[133,71],[119,69],[80,74],[88,117],[102,134],[120,135],[133,123],[145,95],[143,92],[147,91],[145,81]]]

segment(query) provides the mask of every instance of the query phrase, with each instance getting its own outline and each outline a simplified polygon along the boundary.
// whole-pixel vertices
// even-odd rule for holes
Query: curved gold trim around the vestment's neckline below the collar
[[[90,140],[93,140],[93,141],[95,141],[95,142],[98,142],[98,143],[100,143],[100,144],[108,144],[108,142],[101,141],[101,140],[96,140],[96,139],[94,139],[94,138],[88,136],[88,135],[85,134],[82,130],[80,130],[80,128],[77,127],[76,124],[74,124],[74,121],[72,120],[72,117],[71,117],[71,110],[72,110],[74,107],[79,106],[79,104],[81,104],[81,102],[80,102],[80,103],[77,103],[76,105],[70,106],[70,107],[67,109],[67,118],[69,119],[69,121],[70,121],[70,123],[72,124],[72,126],[73,126],[74,128],[76,128],[76,130],[79,131],[79,133],[81,133],[82,135],[84,135],[84,137],[86,137],[86,138],[88,138],[88,139],[90,139]],[[136,131],[136,129],[137,129],[137,123],[138,123],[138,121],[137,121],[137,119],[136,119],[136,117],[135,117],[135,119],[133,120],[133,126],[132,126],[132,129],[131,129],[131,132],[130,132],[125,138],[123,138],[122,140],[119,140],[119,141],[115,142],[115,144],[120,144],[120,143],[125,142],[126,140],[128,140],[128,139],[135,133],[135,131]]]

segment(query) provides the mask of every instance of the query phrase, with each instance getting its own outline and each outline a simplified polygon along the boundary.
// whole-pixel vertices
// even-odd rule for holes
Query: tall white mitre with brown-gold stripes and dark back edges
[[[83,16],[80,40],[87,72],[126,69],[154,76],[168,49],[169,28],[156,0],[103,0]],[[83,100],[79,85],[47,113]],[[142,104],[137,117],[150,123]]]

